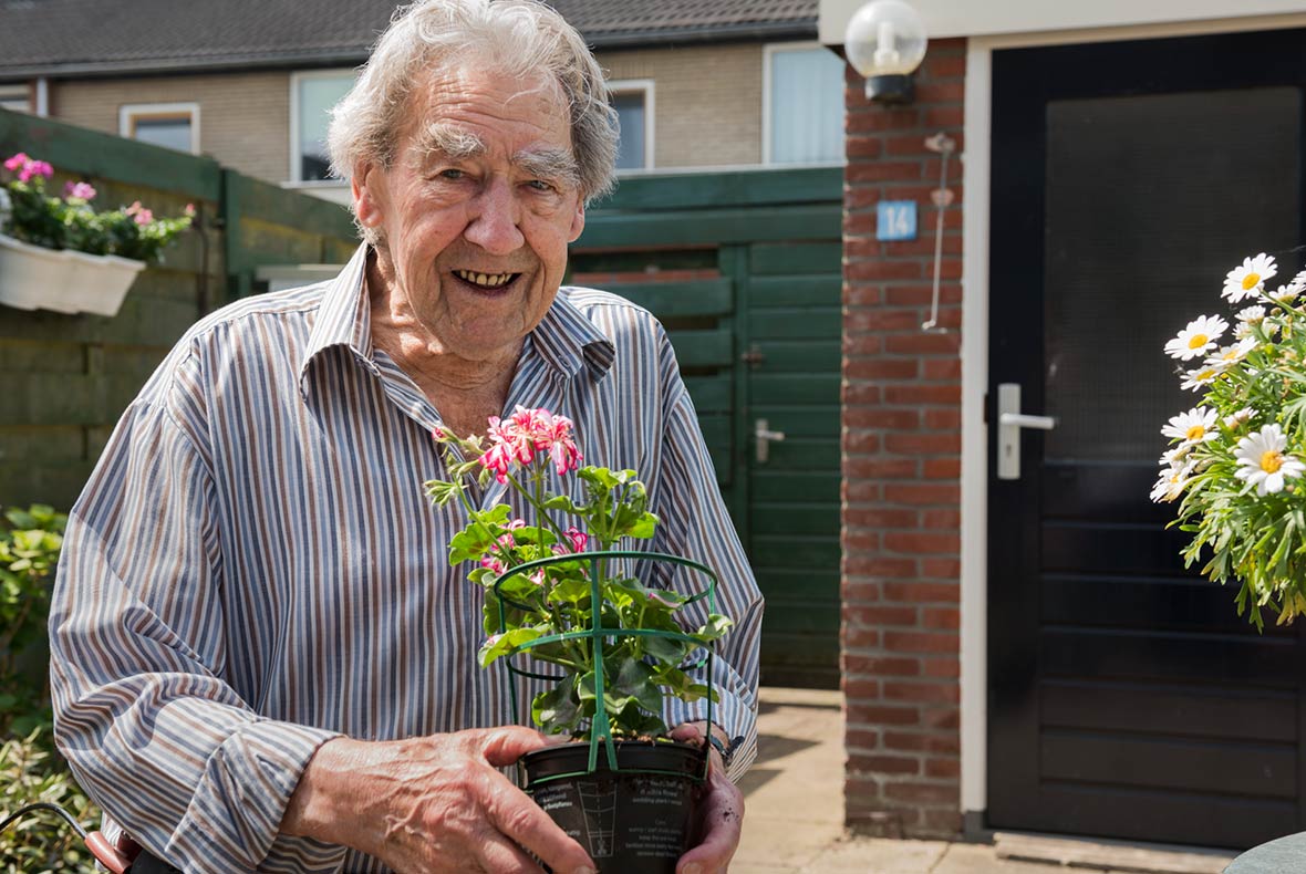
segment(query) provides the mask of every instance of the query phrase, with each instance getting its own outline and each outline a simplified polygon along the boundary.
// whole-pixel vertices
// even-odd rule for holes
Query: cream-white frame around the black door
[[[970,37],[964,98],[961,274],[961,813],[985,827],[989,793],[989,216],[991,208],[993,52],[1003,48],[1306,27],[1306,13]]]

